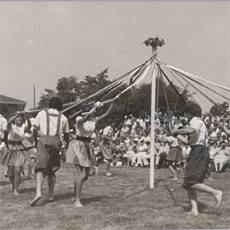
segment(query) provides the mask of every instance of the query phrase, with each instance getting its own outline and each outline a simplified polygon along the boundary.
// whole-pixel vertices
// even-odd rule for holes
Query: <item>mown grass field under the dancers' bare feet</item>
[[[155,189],[149,189],[148,168],[112,168],[113,177],[91,177],[83,187],[82,209],[73,205],[73,167],[63,164],[57,173],[55,202],[45,196],[37,207],[30,207],[35,180],[24,180],[21,195],[11,193],[10,184],[1,180],[1,230],[73,230],[73,229],[227,229],[230,226],[229,172],[212,173],[215,180],[206,183],[224,191],[223,202],[215,209],[215,200],[199,194],[201,215],[188,214],[189,202],[182,188],[183,178],[170,180],[167,169],[155,170]],[[1,177],[3,178],[3,177]],[[44,184],[44,194],[47,184]]]

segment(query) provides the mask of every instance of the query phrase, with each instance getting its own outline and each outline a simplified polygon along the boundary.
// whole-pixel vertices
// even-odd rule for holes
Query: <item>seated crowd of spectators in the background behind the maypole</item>
[[[213,117],[203,115],[208,128],[207,146],[210,152],[210,167],[216,172],[230,165],[230,120],[228,115]],[[167,113],[157,112],[155,115],[155,167],[167,167],[166,160],[172,144],[171,129],[184,127],[188,121],[183,116],[168,116]],[[148,167],[150,164],[150,117],[136,118],[132,115],[125,117],[121,127],[112,124],[107,126],[112,132],[113,166]],[[103,129],[95,134],[94,152],[101,159],[98,139],[103,135]],[[184,160],[179,162],[185,167],[190,147],[180,141]]]

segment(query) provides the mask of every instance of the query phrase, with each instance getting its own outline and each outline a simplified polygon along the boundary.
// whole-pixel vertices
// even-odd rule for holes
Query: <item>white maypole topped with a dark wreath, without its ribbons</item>
[[[151,57],[154,59],[157,56],[157,47],[164,45],[164,40],[162,38],[149,38],[144,41],[146,46],[152,47]],[[156,103],[156,79],[157,79],[157,65],[156,59],[153,62],[152,70],[152,84],[151,84],[151,147],[150,147],[150,176],[149,176],[149,186],[151,189],[154,188],[154,165],[155,165],[155,103]]]

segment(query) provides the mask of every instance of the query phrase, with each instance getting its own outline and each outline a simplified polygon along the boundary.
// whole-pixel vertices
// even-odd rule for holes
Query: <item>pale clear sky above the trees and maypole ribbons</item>
[[[29,109],[33,85],[38,102],[61,77],[114,79],[149,58],[155,36],[161,60],[230,88],[229,12],[228,1],[0,1],[0,94]]]

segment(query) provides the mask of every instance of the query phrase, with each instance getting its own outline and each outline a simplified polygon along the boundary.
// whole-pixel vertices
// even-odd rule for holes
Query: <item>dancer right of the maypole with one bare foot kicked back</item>
[[[187,160],[183,187],[188,193],[191,202],[191,214],[199,215],[196,192],[206,192],[212,195],[219,207],[222,200],[222,191],[204,184],[205,174],[209,164],[209,152],[206,144],[207,129],[201,119],[202,111],[198,104],[189,102],[185,106],[185,116],[188,118],[189,127],[172,130],[175,134],[188,135],[188,144],[191,152]]]

